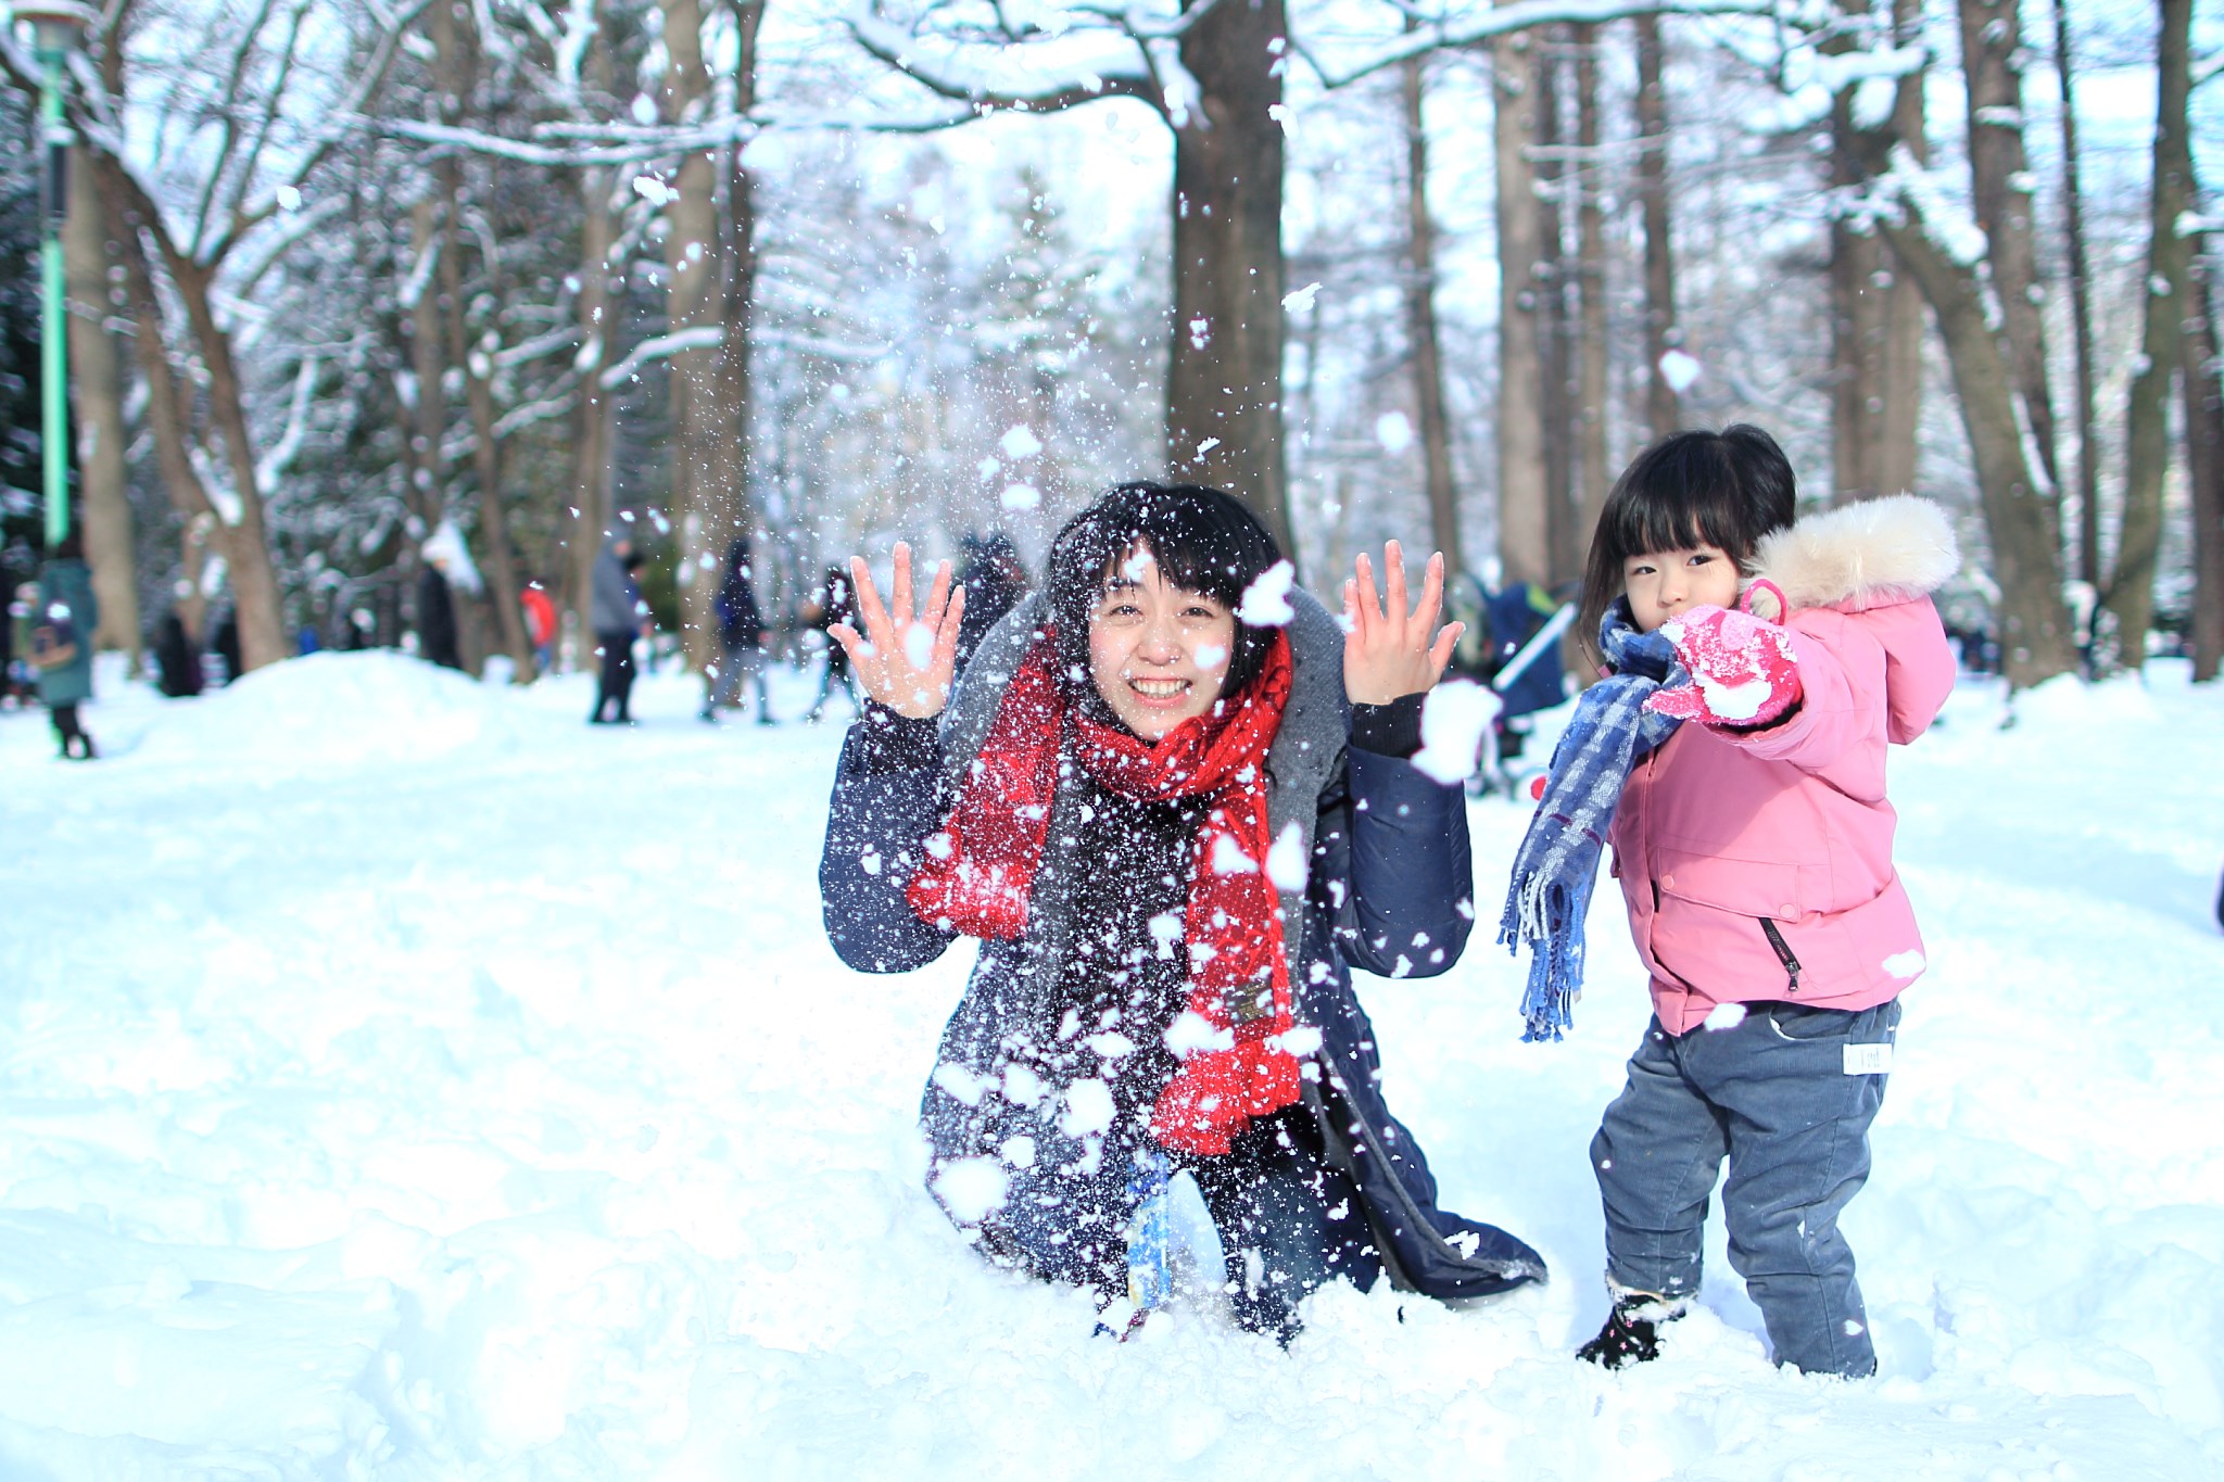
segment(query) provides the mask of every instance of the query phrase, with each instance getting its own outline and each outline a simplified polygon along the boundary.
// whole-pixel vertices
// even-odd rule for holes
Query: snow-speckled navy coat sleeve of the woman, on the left
[[[834,769],[818,900],[827,942],[861,973],[907,973],[943,955],[956,933],[919,920],[903,889],[941,829],[941,740],[932,720],[878,704],[850,727]]]

